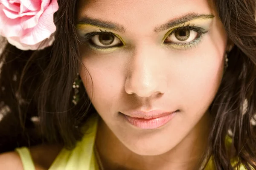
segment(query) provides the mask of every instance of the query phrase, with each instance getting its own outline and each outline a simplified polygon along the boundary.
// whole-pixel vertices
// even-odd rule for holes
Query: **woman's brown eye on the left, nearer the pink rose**
[[[121,46],[122,41],[119,40],[115,35],[109,32],[102,32],[98,35],[95,35],[91,38],[91,43],[95,46],[99,47],[114,47],[114,46]]]

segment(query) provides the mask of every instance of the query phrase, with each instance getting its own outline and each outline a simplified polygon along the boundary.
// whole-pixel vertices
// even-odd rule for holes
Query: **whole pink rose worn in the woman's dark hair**
[[[0,35],[21,50],[50,46],[57,10],[57,0],[0,0]]]

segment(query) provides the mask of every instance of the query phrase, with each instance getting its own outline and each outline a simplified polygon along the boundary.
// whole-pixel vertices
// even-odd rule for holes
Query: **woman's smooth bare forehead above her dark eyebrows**
[[[216,14],[213,0],[79,0],[78,20],[92,17],[119,23],[136,31],[153,27],[187,13]]]

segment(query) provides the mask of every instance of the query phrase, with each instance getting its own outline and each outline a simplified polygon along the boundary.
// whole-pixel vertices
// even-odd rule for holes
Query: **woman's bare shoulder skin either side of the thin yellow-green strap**
[[[61,146],[38,145],[29,148],[35,170],[47,170],[61,151]],[[17,152],[0,154],[0,170],[24,170]]]

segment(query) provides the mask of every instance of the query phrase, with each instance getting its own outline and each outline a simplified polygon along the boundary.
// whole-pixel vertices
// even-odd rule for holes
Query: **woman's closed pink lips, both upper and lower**
[[[175,115],[174,112],[163,112],[163,111],[135,111],[129,113],[129,115],[124,114],[126,120],[132,125],[139,127],[141,129],[155,129],[161,127],[169,122]]]

